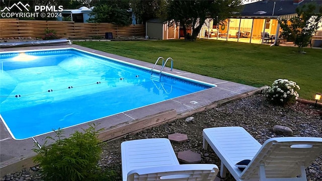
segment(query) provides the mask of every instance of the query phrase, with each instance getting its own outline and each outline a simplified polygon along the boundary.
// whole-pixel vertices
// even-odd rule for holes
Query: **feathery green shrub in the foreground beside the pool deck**
[[[97,166],[102,153],[102,143],[97,137],[100,130],[91,124],[83,131],[75,131],[69,138],[62,139],[63,131],[58,129],[55,131],[57,140],[47,137],[41,148],[33,149],[38,153],[34,162],[40,164],[44,180],[99,180],[101,176],[113,176],[113,171],[102,172]],[[46,145],[48,139],[55,142]]]

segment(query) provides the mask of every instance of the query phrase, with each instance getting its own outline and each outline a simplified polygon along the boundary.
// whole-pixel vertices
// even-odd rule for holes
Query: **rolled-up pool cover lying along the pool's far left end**
[[[0,48],[23,47],[23,46],[57,45],[57,44],[66,44],[66,43],[71,45],[70,40],[67,40],[67,39],[37,40],[37,41],[26,41],[26,42],[5,42],[5,43],[0,43]]]

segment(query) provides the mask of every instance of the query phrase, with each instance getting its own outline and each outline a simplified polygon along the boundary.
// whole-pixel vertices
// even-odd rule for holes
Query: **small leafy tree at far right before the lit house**
[[[290,24],[287,19],[280,20],[280,24],[284,34],[298,46],[298,52],[303,52],[303,47],[310,43],[312,35],[319,28],[319,23],[322,23],[322,6],[316,8],[314,3],[305,4],[296,8],[296,14],[296,17],[289,20]]]

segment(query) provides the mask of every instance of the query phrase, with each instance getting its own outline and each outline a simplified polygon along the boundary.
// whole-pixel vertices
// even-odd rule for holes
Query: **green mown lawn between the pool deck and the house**
[[[176,69],[256,87],[289,79],[297,82],[300,97],[308,100],[322,93],[321,49],[306,48],[306,54],[299,54],[294,47],[216,40],[73,43],[150,63],[159,56],[172,57]]]

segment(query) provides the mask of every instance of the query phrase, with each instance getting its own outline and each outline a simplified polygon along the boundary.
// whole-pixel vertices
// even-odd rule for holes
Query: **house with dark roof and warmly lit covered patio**
[[[275,44],[282,31],[278,19],[297,16],[296,8],[320,0],[263,0],[244,5],[238,16],[225,20],[223,25],[213,25],[209,19],[200,31],[200,38]],[[267,38],[265,38],[267,35]]]

